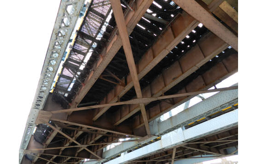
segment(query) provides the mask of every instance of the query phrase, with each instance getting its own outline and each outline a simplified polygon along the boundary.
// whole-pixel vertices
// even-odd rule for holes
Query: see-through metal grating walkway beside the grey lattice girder
[[[95,47],[99,44],[100,37],[98,35],[102,36],[101,28],[110,12],[109,0],[93,0],[88,7],[53,92],[53,100],[61,102],[63,107],[67,107],[68,103],[72,101],[78,88],[89,74],[90,65],[87,64],[87,58],[92,53],[98,52],[95,51]]]

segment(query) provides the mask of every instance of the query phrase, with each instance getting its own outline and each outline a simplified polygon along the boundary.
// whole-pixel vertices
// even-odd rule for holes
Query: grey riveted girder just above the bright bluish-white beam
[[[153,126],[151,126],[152,134],[159,135],[166,133],[166,131],[176,130],[237,103],[238,90],[221,91],[163,122],[153,124]]]

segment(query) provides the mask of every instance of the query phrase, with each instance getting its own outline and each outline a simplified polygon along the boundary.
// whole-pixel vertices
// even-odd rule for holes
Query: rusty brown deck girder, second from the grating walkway
[[[138,71],[139,80],[142,79],[152,68],[154,68],[158,62],[160,62],[168,53],[183,40],[187,34],[189,34],[196,26],[198,22],[183,12],[172,24],[171,27],[167,27],[167,30],[163,33],[157,42],[151,46],[141,58],[140,62],[136,65]],[[120,97],[130,90],[134,84],[131,80],[131,75],[127,77],[127,85],[125,87],[115,86],[110,93],[104,98],[100,104],[117,102]],[[124,81],[124,78],[122,79]],[[103,113],[105,113],[110,107],[103,107],[99,109],[99,112],[93,117],[93,121],[97,120]]]

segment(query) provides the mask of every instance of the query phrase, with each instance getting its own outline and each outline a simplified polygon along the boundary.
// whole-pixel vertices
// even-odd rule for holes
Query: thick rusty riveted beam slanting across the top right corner
[[[195,0],[174,0],[174,2],[192,17],[203,23],[206,28],[220,37],[221,40],[231,45],[234,50],[238,51],[238,37],[229,31]]]

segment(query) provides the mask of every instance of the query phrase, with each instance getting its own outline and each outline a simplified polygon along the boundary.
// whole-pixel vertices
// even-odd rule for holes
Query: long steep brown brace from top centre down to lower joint
[[[110,0],[110,1],[111,1],[112,10],[113,10],[113,13],[115,16],[118,32],[119,32],[119,35],[122,40],[122,47],[123,47],[125,57],[126,57],[126,60],[128,63],[130,74],[133,79],[134,89],[135,89],[137,97],[142,98],[140,83],[139,83],[138,74],[137,74],[137,70],[136,70],[136,66],[135,66],[135,62],[134,62],[132,48],[131,48],[129,37],[128,37],[128,32],[127,32],[127,29],[125,26],[125,20],[123,17],[121,3],[119,0]],[[149,125],[148,125],[145,105],[143,103],[140,103],[140,111],[142,113],[142,117],[144,120],[147,135],[151,135]]]

